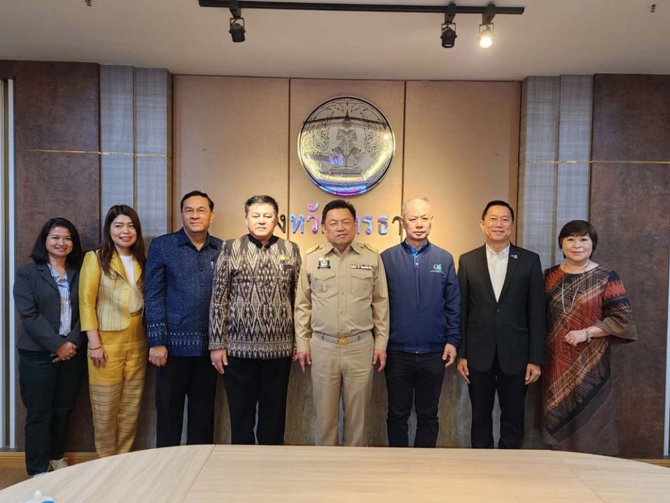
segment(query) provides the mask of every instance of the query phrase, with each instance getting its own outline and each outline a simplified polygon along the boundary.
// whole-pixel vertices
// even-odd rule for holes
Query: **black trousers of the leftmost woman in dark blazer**
[[[47,471],[65,454],[70,413],[86,368],[86,347],[68,361],[52,363],[50,351],[19,349],[19,386],[26,407],[26,471]]]

